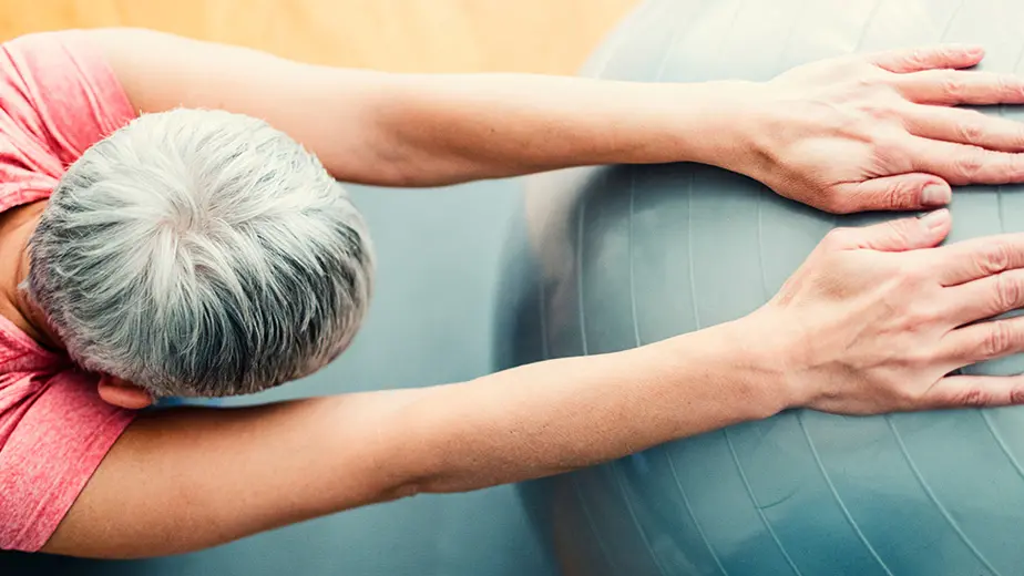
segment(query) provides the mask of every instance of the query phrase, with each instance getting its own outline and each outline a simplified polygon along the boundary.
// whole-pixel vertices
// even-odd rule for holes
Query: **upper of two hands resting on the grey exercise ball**
[[[946,204],[950,185],[1024,182],[1024,123],[955,107],[1022,104],[1024,80],[967,71],[980,48],[822,60],[759,86],[749,154],[725,167],[830,213]]]

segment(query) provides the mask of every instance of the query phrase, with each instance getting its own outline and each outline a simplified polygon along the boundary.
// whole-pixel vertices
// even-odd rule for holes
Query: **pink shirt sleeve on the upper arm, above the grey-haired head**
[[[11,121],[49,153],[30,154],[42,160],[31,167],[51,176],[59,177],[85,150],[136,117],[102,50],[82,30],[6,42],[0,82],[7,84],[3,107]],[[58,162],[45,162],[47,156]]]

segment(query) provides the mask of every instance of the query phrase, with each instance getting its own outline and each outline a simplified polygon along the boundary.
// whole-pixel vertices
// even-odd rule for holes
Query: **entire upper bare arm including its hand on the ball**
[[[580,165],[699,162],[829,212],[918,209],[950,184],[1024,182],[1024,103],[970,47],[831,59],[767,83],[401,74],[139,29],[89,31],[142,112],[262,117],[342,181],[434,186]],[[935,186],[929,187],[930,184]]]

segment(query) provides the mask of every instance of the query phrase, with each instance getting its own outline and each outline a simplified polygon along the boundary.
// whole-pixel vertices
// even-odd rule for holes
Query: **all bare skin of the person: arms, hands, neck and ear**
[[[140,30],[91,34],[141,111],[264,117],[342,181],[428,186],[692,161],[834,213],[934,208],[951,183],[1024,181],[1017,124],[950,107],[1024,102],[1015,78],[956,70],[982,58],[970,47],[823,61],[762,84],[642,85],[397,75]],[[2,311],[60,347],[16,288],[39,209],[0,217],[0,261],[20,263],[2,270]],[[1020,403],[1018,377],[946,374],[1024,349],[1024,319],[981,321],[1024,305],[1024,236],[941,245],[951,226],[940,208],[836,230],[751,315],[633,350],[423,389],[143,415],[44,552],[195,551],[417,493],[566,472],[790,408]],[[100,390],[119,405],[150,401],[115,378]]]

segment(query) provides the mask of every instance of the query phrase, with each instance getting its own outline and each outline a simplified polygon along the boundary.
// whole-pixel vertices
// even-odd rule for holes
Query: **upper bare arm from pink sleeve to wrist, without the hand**
[[[759,84],[401,74],[294,62],[150,30],[89,32],[134,107],[260,117],[337,178],[429,186],[554,168],[693,161],[746,146]]]

